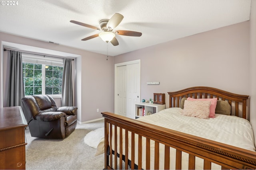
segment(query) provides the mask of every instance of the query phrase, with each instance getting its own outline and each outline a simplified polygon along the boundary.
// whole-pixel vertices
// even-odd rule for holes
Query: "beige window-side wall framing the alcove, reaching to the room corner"
[[[3,84],[6,83],[6,79],[3,75],[7,73],[7,68],[3,67],[3,64],[6,64],[3,63],[3,59],[7,56],[6,53],[8,53],[8,51],[3,51],[3,41],[80,55],[81,57],[75,62],[75,82],[77,82],[77,84],[74,86],[74,101],[75,104],[77,104],[76,106],[78,106],[79,114],[78,121],[84,122],[98,119],[102,117],[101,112],[114,111],[113,57],[108,57],[107,61],[105,55],[98,53],[66,47],[64,45],[54,45],[0,32],[1,106],[3,106],[2,104],[5,100],[5,98],[3,98],[3,94],[7,90],[5,87],[8,86],[8,84],[3,86]],[[97,108],[100,112],[96,112]]]

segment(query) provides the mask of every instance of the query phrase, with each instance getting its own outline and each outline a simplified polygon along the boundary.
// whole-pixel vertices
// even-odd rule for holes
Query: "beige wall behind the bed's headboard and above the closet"
[[[214,29],[114,57],[140,59],[141,99],[192,86],[250,95],[250,22]],[[160,85],[147,85],[147,82]]]

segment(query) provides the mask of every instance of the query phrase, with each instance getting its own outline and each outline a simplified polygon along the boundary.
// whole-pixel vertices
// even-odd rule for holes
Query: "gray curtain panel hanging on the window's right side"
[[[74,106],[72,87],[72,59],[64,59],[61,106]]]

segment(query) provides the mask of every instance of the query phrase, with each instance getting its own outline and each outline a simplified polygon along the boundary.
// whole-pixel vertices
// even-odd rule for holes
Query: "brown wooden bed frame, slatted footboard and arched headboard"
[[[247,100],[249,96],[247,95],[233,94],[204,86],[186,88],[168,92],[168,94],[169,107],[180,107],[181,99],[184,97],[217,98],[230,104],[231,115],[248,118]],[[128,169],[128,164],[131,169],[159,169],[160,164],[161,167],[164,164],[164,169],[170,169],[171,166],[181,169],[184,165],[182,163],[184,152],[188,154],[186,163],[188,167],[185,169],[195,169],[198,165],[196,163],[198,158],[203,162],[203,169],[214,168],[212,165],[215,166],[215,164],[220,165],[221,169],[256,169],[256,152],[254,151],[188,135],[110,112],[103,112],[102,115],[105,118],[105,169]],[[146,146],[142,146],[142,140]],[[150,149],[150,143],[154,146],[153,152]],[[171,158],[170,147],[176,149],[174,152],[172,150],[172,153],[176,153]],[[144,149],[143,153],[142,148]],[[170,166],[170,164],[172,165]]]

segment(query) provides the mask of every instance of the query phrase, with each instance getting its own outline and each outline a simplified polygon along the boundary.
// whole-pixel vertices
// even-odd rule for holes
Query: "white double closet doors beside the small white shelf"
[[[140,60],[115,64],[114,113],[135,118],[140,101]]]

